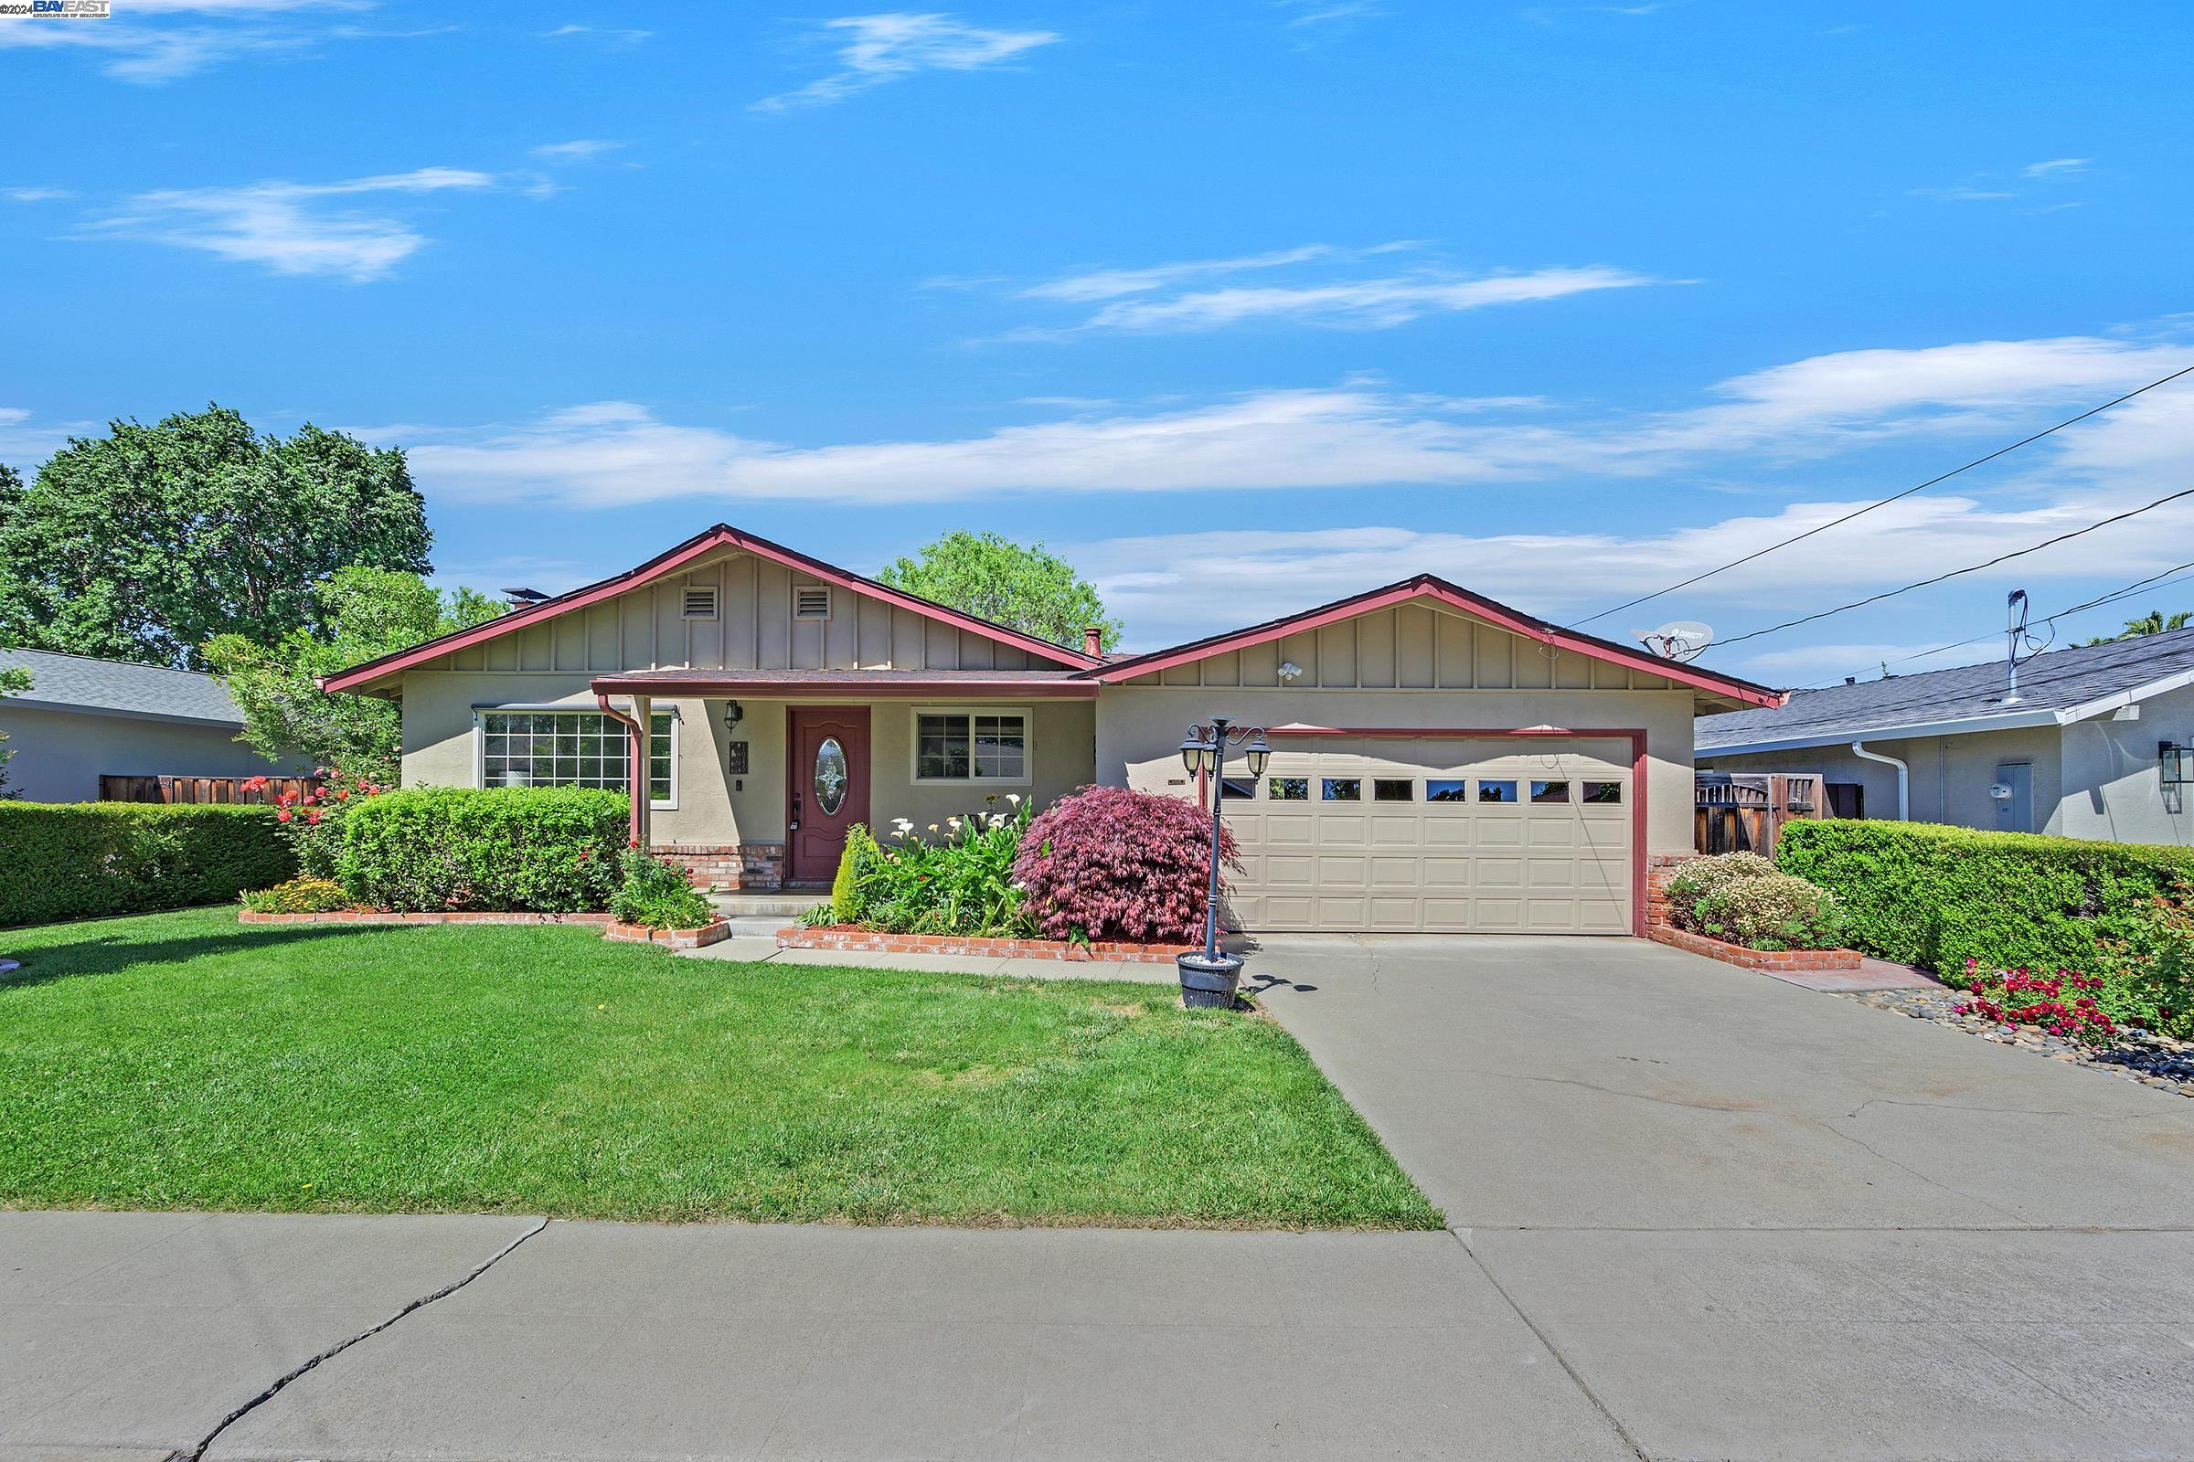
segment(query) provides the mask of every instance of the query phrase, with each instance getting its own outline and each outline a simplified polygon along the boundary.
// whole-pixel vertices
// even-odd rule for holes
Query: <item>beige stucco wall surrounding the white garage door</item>
[[[1692,846],[1689,690],[1376,690],[1108,686],[1097,701],[1097,780],[1194,796],[1180,739],[1215,715],[1253,726],[1646,730],[1646,848]]]

